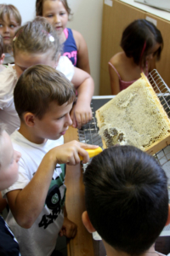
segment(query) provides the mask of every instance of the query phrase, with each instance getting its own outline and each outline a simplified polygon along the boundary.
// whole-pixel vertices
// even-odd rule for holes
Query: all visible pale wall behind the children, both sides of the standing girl
[[[99,95],[100,41],[103,0],[67,0],[74,14],[69,27],[82,33],[88,44],[91,75],[94,79],[94,95]],[[12,3],[20,11],[22,24],[35,17],[36,0],[0,0]]]

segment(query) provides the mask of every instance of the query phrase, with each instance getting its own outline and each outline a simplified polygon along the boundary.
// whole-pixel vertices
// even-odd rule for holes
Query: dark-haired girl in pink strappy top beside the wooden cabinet
[[[148,20],[134,20],[122,32],[122,52],[109,62],[111,92],[116,95],[156,68],[163,48],[161,32]]]

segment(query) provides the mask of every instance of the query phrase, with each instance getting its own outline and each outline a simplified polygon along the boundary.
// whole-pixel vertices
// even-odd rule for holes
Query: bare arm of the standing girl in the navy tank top
[[[77,67],[90,73],[90,66],[88,60],[88,47],[80,32],[72,31],[77,44]]]

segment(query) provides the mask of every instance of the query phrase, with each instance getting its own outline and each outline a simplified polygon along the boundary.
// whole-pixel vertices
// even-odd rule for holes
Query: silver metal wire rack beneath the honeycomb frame
[[[167,112],[168,117],[170,118],[170,89],[167,87],[167,84],[161,79],[160,74],[154,69],[148,77],[150,84],[153,86],[156,91],[157,96],[160,99],[161,105]],[[91,103],[91,108],[93,112],[93,119],[86,125],[83,125],[80,130],[78,130],[79,141],[82,143],[99,145],[103,148],[103,143],[101,137],[99,136],[99,128],[97,126],[97,120],[95,119],[95,112],[93,102]],[[170,146],[161,149],[155,155],[156,160],[162,166],[162,168],[167,172],[170,172]],[[83,170],[86,170],[88,164],[82,165]],[[170,174],[169,174],[170,179]],[[170,189],[170,182],[169,182]]]

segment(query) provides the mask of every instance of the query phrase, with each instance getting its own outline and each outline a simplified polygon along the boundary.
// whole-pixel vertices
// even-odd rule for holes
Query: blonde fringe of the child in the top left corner
[[[11,15],[14,15],[14,19],[21,25],[21,16],[19,10],[13,4],[0,4],[0,19],[3,20],[4,15],[8,16],[10,20]]]

